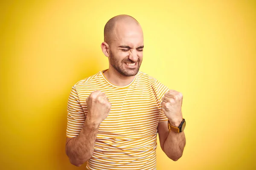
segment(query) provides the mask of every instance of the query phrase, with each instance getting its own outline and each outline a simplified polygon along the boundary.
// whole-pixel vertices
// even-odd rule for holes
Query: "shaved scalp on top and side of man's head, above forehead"
[[[130,25],[130,24],[135,24],[137,26],[140,26],[139,22],[134,18],[131,17],[130,15],[117,15],[106,23],[104,27],[104,41],[108,43],[109,45],[111,44],[113,40],[113,33],[116,29],[116,26],[119,25]]]

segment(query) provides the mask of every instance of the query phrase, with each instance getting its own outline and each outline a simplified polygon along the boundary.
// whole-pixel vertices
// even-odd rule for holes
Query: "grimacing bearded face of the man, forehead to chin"
[[[116,23],[110,45],[110,66],[124,76],[135,76],[143,59],[143,31],[135,23]]]

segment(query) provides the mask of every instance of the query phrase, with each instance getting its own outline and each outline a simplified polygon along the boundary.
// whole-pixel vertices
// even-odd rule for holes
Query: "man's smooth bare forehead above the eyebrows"
[[[143,45],[143,31],[140,25],[134,23],[116,23],[113,31],[115,45],[129,45],[136,47]]]

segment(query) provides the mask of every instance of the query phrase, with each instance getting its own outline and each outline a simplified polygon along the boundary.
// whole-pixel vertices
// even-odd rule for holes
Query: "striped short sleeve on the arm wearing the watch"
[[[169,91],[169,88],[166,85],[163,85],[158,80],[156,80],[156,88],[157,88],[157,98],[161,105],[162,98],[163,98],[164,94]],[[168,118],[163,113],[163,107],[161,106],[159,122],[164,122],[164,121],[168,121]]]

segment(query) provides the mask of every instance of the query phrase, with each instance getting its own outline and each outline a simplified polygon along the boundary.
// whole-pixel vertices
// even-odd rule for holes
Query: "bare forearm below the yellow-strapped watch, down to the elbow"
[[[164,152],[173,161],[177,161],[183,154],[186,144],[185,133],[175,133],[170,131],[166,141],[164,142]]]

